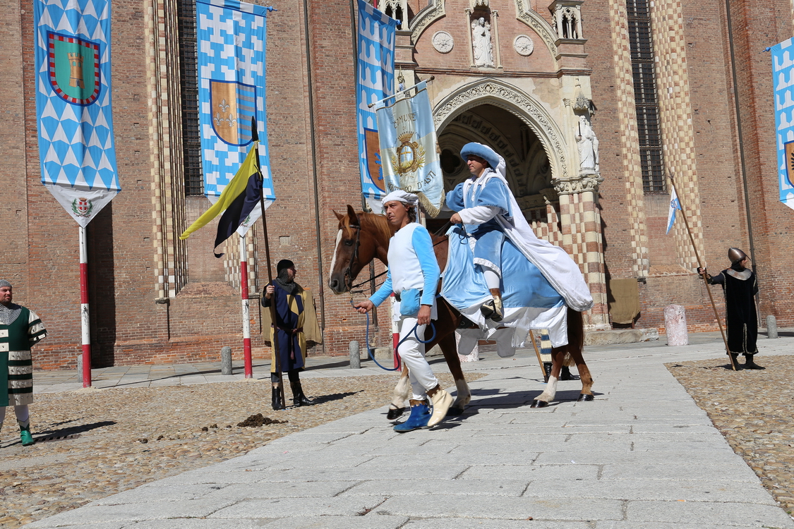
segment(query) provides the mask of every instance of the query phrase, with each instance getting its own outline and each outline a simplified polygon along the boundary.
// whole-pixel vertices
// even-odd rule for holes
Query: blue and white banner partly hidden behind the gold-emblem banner
[[[375,109],[369,105],[394,93],[397,21],[358,0],[358,153],[361,193],[376,213],[386,186],[380,167],[380,142]]]

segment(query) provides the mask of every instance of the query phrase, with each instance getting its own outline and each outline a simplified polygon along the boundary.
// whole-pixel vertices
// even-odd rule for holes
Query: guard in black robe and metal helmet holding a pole
[[[762,370],[764,367],[754,362],[757,354],[758,315],[755,309],[755,295],[758,283],[753,270],[746,268],[750,260],[738,248],[728,250],[730,268],[715,276],[698,268],[699,274],[706,274],[710,285],[722,285],[725,293],[725,328],[728,338],[728,351],[736,365],[738,355],[745,355],[745,369]]]

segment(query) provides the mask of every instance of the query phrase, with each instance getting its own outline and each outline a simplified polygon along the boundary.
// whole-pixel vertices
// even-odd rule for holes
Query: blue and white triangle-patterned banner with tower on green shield
[[[110,2],[34,0],[41,183],[83,228],[121,191],[110,90]]]

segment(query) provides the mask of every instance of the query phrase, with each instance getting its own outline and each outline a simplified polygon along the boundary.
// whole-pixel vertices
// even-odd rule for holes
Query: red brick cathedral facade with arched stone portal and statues
[[[74,367],[80,349],[78,228],[40,184],[33,4],[6,13],[0,128],[6,190],[0,276],[50,337],[36,365]],[[189,0],[114,2],[114,128],[122,191],[87,229],[94,366],[241,358],[239,249],[214,230],[179,233],[209,205],[187,182]],[[355,5],[279,0],[268,17],[268,129],[278,200],[274,262],[311,289],[326,355],[362,340],[349,296],[327,287],[337,219],[360,207]],[[665,235],[673,174],[698,254],[711,270],[741,247],[759,277],[761,320],[794,325],[794,212],[777,201],[772,74],[766,47],[792,36],[791,0],[380,0],[399,18],[396,67],[431,75],[445,184],[466,176],[462,144],[491,144],[538,236],[580,265],[595,299],[591,332],[611,328],[617,280],[638,282],[637,327],[664,328],[684,305],[690,331],[715,330],[683,222]],[[488,27],[488,48],[478,27]],[[188,39],[189,40],[189,39]],[[195,97],[195,96],[192,96]],[[585,133],[583,134],[583,127]],[[592,129],[597,142],[587,140]],[[583,138],[586,140],[583,140]],[[589,142],[589,143],[588,143]],[[589,150],[588,150],[589,149]],[[261,224],[245,241],[249,293],[267,281]],[[382,268],[382,267],[379,267]],[[623,282],[625,284],[625,281]],[[722,294],[715,292],[722,311]],[[357,294],[363,296],[364,294]],[[390,342],[380,314],[378,344]],[[255,357],[269,354],[252,310]]]

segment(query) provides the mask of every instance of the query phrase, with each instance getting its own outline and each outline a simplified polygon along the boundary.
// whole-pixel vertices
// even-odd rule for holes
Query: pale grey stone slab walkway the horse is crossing
[[[790,352],[784,341],[771,353]],[[794,529],[663,366],[721,347],[596,348],[596,400],[577,403],[579,382],[561,381],[539,410],[530,355],[468,364],[488,377],[464,416],[434,429],[399,435],[384,408],[364,412],[29,527]]]

